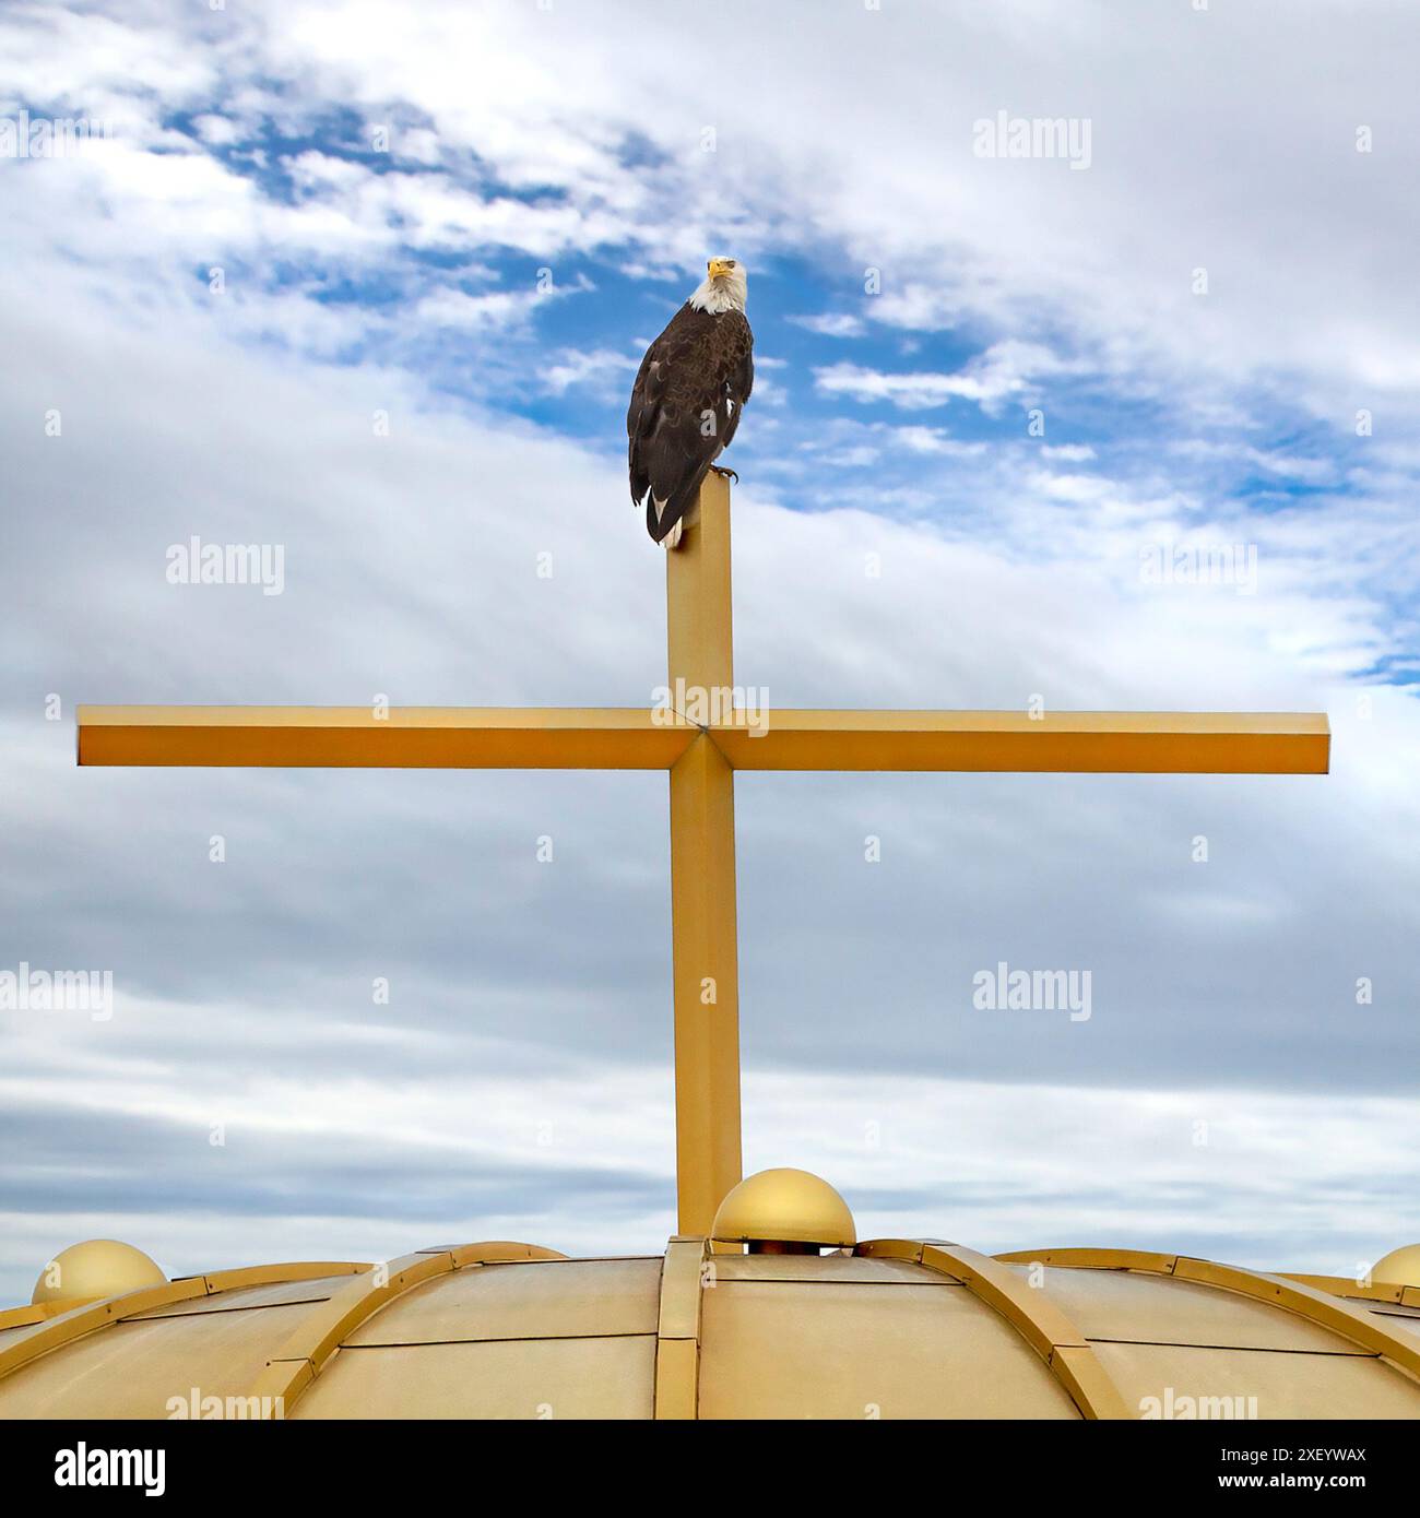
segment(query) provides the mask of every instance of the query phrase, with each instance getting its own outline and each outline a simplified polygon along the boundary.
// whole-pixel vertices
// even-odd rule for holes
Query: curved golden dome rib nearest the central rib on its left
[[[246,1395],[255,1397],[257,1401],[249,1406],[270,1409],[272,1418],[287,1416],[311,1381],[334,1359],[342,1339],[354,1328],[416,1286],[439,1275],[451,1275],[454,1271],[480,1268],[484,1258],[488,1263],[507,1263],[566,1257],[541,1245],[494,1240],[459,1245],[436,1254],[419,1249],[392,1260],[386,1271],[371,1268],[327,1301],[316,1302],[314,1310],[296,1324],[281,1348],[252,1380]],[[381,1277],[378,1283],[377,1277]]]

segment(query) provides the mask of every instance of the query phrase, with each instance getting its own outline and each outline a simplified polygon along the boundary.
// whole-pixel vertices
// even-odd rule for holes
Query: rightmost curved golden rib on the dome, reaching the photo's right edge
[[[1119,1263],[1104,1264],[1100,1257],[1112,1257]],[[1213,1286],[1220,1290],[1238,1292],[1253,1301],[1271,1302],[1282,1312],[1294,1313],[1308,1322],[1359,1343],[1362,1350],[1384,1360],[1409,1380],[1420,1381],[1420,1342],[1382,1327],[1376,1313],[1365,1307],[1352,1307],[1295,1277],[1268,1275],[1265,1271],[1250,1271],[1241,1264],[1218,1264],[1194,1255],[1150,1255],[1136,1249],[1042,1249],[1030,1252],[1013,1251],[996,1257],[1001,1261],[1059,1264],[1063,1269],[1125,1269],[1141,1275],[1172,1275],[1180,1281],[1198,1286]],[[1133,1260],[1168,1260],[1168,1268],[1130,1263]]]

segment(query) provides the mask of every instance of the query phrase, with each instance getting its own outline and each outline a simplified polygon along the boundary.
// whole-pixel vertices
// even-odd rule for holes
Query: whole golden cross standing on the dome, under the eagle
[[[665,556],[677,709],[80,706],[82,765],[667,770],[679,1231],[709,1234],[740,1181],[737,770],[1324,774],[1326,716],[1299,712],[746,712],[729,709],[729,484]],[[691,703],[686,703],[691,706]],[[691,707],[694,709],[694,707]]]

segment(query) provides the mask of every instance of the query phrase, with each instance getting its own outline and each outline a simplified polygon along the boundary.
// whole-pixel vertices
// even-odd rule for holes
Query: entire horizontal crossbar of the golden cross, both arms
[[[737,712],[80,706],[82,765],[668,770],[705,732],[735,770],[1324,774],[1315,712]]]

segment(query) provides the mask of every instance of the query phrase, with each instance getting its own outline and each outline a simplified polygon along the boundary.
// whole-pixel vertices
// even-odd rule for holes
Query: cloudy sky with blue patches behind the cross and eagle
[[[664,1246],[662,776],[80,771],[73,710],[648,704],[623,413],[711,252],[741,682],[1335,732],[743,776],[747,1167],[984,1249],[1420,1237],[1417,49],[1402,0],[0,8],[0,970],[114,978],[0,1013],[0,1301],[96,1234]],[[281,594],[169,583],[193,536]],[[973,1008],[999,961],[1090,1017]]]

